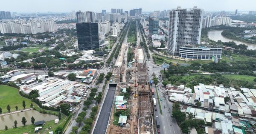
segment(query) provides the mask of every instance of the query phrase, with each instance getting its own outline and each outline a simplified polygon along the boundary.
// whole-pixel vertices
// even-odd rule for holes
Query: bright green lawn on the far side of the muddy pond
[[[26,108],[30,107],[31,100],[21,97],[18,93],[18,89],[0,85],[0,108],[2,108],[2,113],[8,112],[6,106],[9,104],[11,107],[11,111],[16,111],[15,106],[18,106],[18,109],[23,109],[22,102],[25,100]],[[36,104],[33,103],[35,106]]]

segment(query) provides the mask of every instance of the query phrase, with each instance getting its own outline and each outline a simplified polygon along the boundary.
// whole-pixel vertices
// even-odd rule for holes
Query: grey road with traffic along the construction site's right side
[[[138,33],[140,32],[138,25],[140,24],[137,23],[137,37],[140,35]],[[143,32],[143,35],[140,35],[140,37],[138,37],[137,43],[139,43],[140,40],[142,40],[142,36],[145,37],[144,32]],[[146,44],[148,44],[147,41],[146,41]],[[151,80],[153,78],[151,75],[154,73],[156,74],[156,77],[159,77],[160,71],[163,70],[163,68],[161,68],[161,66],[157,66],[154,64],[152,59],[152,53],[149,50],[148,52],[151,58],[148,60],[148,58],[144,53],[144,59],[145,59],[146,66],[148,67],[148,70],[149,70],[148,79]],[[155,93],[153,97],[156,98],[157,100],[157,111],[155,111],[154,116],[160,119],[160,134],[181,134],[180,127],[177,125],[176,120],[171,117],[172,102],[164,98],[165,91],[163,88],[160,88],[161,85],[162,85],[161,79],[159,79],[159,84],[157,85],[157,89],[159,90],[155,88],[156,86],[154,84],[152,85],[152,87],[155,89]],[[156,91],[158,92],[159,97],[163,99],[163,101],[160,101],[162,111],[163,111],[162,115],[160,114]],[[157,133],[157,131],[155,133]]]

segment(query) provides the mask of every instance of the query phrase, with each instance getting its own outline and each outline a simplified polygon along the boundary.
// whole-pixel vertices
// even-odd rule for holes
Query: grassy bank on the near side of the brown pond
[[[42,129],[39,131],[40,134],[48,134],[50,130],[52,130],[55,134],[55,129],[58,126],[63,126],[65,123],[67,117],[62,118],[58,124],[54,123],[54,120],[51,121],[47,121],[45,122],[45,125],[42,126]],[[30,120],[27,120],[28,122],[30,122]],[[66,120],[68,121],[68,120]],[[46,128],[49,128],[49,130],[45,130]],[[26,125],[26,126],[21,126],[21,127],[17,127],[17,128],[9,128],[8,130],[0,130],[0,134],[23,134],[28,132],[29,134],[39,134],[39,133],[35,133],[35,126],[34,125]]]

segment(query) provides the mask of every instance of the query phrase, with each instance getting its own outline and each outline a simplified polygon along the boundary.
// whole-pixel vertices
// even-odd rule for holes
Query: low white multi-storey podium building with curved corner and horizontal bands
[[[179,57],[188,59],[211,60],[212,56],[221,59],[220,46],[183,45],[180,46]]]

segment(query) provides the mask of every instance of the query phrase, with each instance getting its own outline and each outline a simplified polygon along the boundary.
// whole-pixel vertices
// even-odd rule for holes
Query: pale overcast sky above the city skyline
[[[1,11],[18,13],[101,11],[113,9],[142,8],[142,11],[174,9],[177,6],[204,11],[249,11],[256,10],[256,0],[0,0]]]

